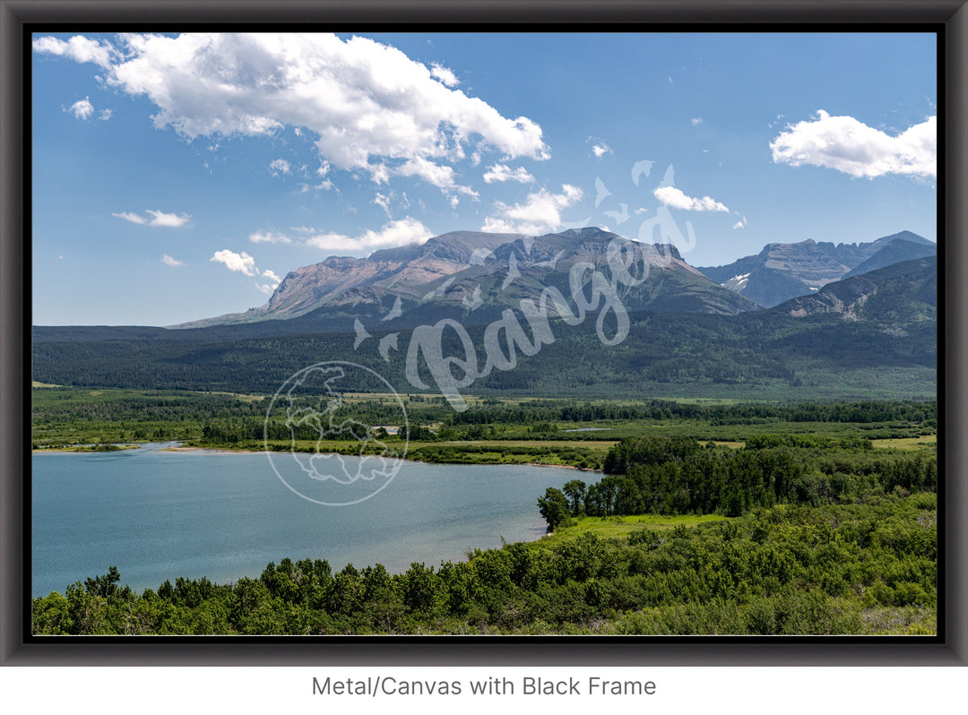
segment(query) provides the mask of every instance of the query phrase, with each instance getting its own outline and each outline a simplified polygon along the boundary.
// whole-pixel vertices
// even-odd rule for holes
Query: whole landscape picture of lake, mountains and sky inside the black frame
[[[33,33],[30,633],[937,637],[938,57]]]

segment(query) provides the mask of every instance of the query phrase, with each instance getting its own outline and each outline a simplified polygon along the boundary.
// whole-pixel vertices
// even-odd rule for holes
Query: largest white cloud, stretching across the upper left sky
[[[550,157],[529,118],[504,117],[453,89],[456,76],[446,68],[428,68],[367,38],[190,33],[117,42],[115,49],[47,37],[34,48],[105,67],[107,85],[157,106],[160,129],[194,138],[302,128],[318,136],[324,161],[367,171],[377,183],[400,170],[449,188],[453,177],[441,164],[464,159],[467,148],[508,159]]]

